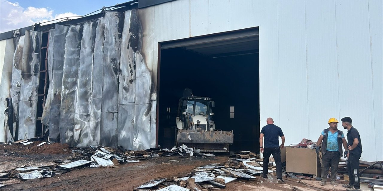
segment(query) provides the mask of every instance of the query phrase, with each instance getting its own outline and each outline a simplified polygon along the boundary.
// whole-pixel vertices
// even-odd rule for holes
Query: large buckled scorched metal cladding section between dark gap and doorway
[[[156,102],[137,10],[56,25],[54,33],[49,136],[80,147],[154,147]]]

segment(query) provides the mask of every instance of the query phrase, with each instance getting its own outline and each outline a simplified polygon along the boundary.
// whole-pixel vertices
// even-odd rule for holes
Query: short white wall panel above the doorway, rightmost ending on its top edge
[[[253,1],[230,1],[230,31],[253,26]]]

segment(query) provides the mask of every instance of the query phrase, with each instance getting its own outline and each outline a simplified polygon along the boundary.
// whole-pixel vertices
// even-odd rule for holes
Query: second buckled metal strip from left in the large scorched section
[[[83,26],[70,26],[65,43],[64,68],[62,72],[62,97],[60,107],[61,143],[74,145],[75,111],[77,110],[77,85],[80,67],[80,48]],[[77,131],[77,129],[76,129]]]

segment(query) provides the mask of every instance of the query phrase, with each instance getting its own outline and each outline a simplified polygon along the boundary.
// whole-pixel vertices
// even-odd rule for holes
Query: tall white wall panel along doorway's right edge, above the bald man
[[[278,2],[253,3],[253,26],[259,26],[259,103],[260,126],[272,117],[280,125],[278,65]]]

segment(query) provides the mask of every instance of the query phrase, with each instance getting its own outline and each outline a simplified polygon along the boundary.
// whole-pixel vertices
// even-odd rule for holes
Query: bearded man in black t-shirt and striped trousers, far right
[[[342,118],[342,126],[347,129],[347,173],[349,174],[350,183],[342,185],[347,191],[360,190],[359,179],[359,159],[362,156],[362,142],[357,129],[352,126],[350,117]]]

